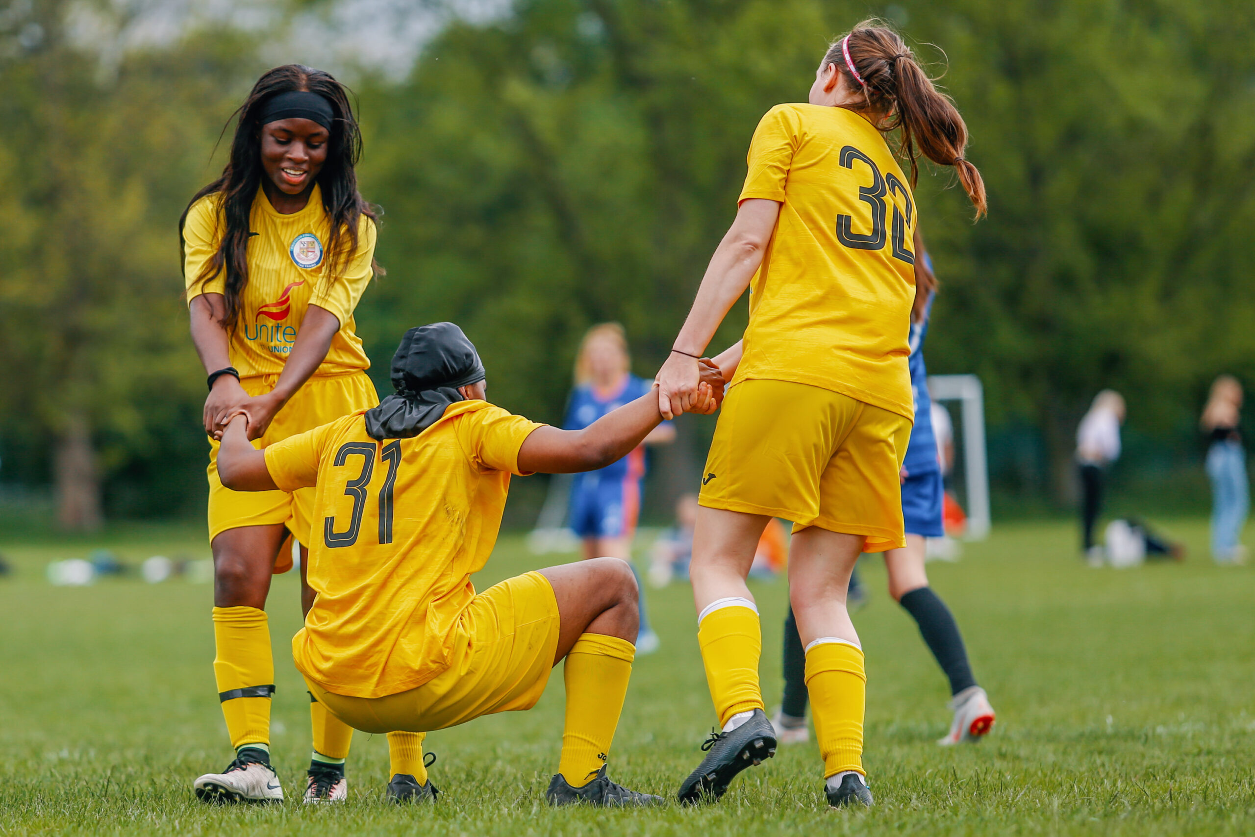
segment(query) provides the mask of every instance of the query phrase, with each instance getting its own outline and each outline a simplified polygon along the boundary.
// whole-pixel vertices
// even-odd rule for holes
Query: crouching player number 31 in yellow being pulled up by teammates
[[[316,486],[321,520],[309,557],[316,592],[292,640],[311,694],[369,733],[425,733],[531,709],[566,658],[566,724],[552,804],[655,804],[606,777],[638,630],[636,582],[619,558],[508,578],[476,594],[510,476],[602,468],[661,415],[646,394],[590,424],[558,430],[484,400],[484,369],[452,323],[405,333],[397,394],[256,450],[245,419],[222,437],[218,472],[235,491]],[[705,366],[702,410],[723,380]],[[318,525],[315,525],[318,531]],[[397,781],[394,778],[394,781]],[[412,779],[434,796],[427,777]]]

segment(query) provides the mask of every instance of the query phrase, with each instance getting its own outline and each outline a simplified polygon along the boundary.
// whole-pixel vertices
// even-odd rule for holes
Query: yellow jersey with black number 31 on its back
[[[382,698],[466,646],[471,573],[497,542],[518,449],[542,425],[471,400],[413,438],[376,442],[363,413],[267,447],[266,469],[284,491],[318,487],[306,568],[318,596],[292,639],[296,668],[333,694]]]

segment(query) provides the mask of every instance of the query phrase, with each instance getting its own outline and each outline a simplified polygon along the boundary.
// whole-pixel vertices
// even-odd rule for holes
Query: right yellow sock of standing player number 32
[[[806,688],[811,694],[814,737],[823,757],[823,777],[862,769],[862,722],[867,673],[862,649],[821,642],[806,653]]]

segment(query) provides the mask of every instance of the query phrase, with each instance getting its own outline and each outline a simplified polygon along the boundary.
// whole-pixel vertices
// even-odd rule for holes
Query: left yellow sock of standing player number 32
[[[758,614],[739,605],[707,614],[698,626],[698,645],[720,727],[739,712],[764,709],[758,685],[763,651]]]

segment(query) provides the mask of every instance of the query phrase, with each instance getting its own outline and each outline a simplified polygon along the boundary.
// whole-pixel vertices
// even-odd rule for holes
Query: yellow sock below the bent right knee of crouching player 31
[[[610,758],[635,656],[631,642],[602,634],[581,635],[566,655],[566,723],[557,772],[572,788],[591,782]]]

